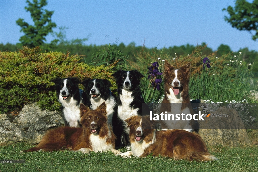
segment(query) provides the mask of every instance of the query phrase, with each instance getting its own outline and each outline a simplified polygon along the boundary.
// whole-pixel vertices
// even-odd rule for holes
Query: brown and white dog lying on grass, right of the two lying
[[[153,156],[174,159],[212,161],[217,160],[211,155],[205,142],[195,132],[185,130],[156,131],[155,121],[149,116],[134,116],[126,120],[130,128],[131,151],[120,154],[122,157]]]

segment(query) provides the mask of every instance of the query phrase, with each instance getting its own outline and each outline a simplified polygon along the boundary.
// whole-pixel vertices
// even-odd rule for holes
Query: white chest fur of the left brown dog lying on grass
[[[107,137],[99,137],[99,134],[90,135],[90,143],[92,151],[94,152],[105,152],[113,148],[112,144],[107,144]]]

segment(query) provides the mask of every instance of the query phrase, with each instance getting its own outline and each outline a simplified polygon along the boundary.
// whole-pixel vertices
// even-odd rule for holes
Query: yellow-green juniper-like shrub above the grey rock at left
[[[36,47],[19,52],[0,52],[0,113],[23,107],[28,101],[42,108],[59,110],[54,83],[55,77],[103,78],[112,80],[114,66],[91,66],[80,62],[81,57],[61,52],[42,53]],[[80,85],[80,88],[83,88]]]

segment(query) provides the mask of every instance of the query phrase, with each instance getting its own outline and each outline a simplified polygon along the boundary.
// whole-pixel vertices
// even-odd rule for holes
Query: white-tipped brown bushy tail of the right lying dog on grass
[[[199,161],[213,161],[213,160],[219,160],[213,155],[211,155],[209,152],[191,152],[186,155],[185,159],[187,160],[199,160]]]

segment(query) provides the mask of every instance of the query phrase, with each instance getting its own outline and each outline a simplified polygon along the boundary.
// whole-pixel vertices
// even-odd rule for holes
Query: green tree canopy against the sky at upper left
[[[51,21],[54,11],[43,9],[47,5],[47,0],[33,0],[33,2],[27,0],[26,2],[28,6],[25,7],[25,10],[30,12],[34,26],[21,18],[16,20],[16,24],[21,27],[20,32],[25,34],[19,39],[21,44],[31,48],[42,45],[46,41],[46,36],[53,32],[52,28],[57,25]]]

